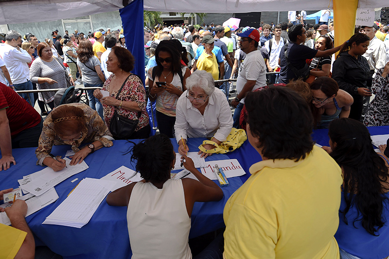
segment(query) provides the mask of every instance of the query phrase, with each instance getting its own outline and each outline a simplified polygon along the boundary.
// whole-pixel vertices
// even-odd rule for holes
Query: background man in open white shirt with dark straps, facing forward
[[[269,67],[267,68],[269,72],[279,71],[280,65],[278,64],[278,60],[280,58],[281,49],[283,45],[288,42],[284,42],[284,39],[281,37],[281,25],[277,24],[274,28],[274,38],[269,39],[265,42],[265,48],[269,53]],[[269,75],[269,84],[276,83],[276,74]]]

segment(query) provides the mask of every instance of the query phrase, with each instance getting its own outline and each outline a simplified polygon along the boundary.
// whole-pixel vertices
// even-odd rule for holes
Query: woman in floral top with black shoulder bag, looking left
[[[104,83],[103,90],[108,91],[109,96],[103,97],[99,89],[93,93],[103,104],[106,125],[109,127],[113,114],[117,110],[119,115],[127,119],[139,120],[134,133],[128,139],[148,138],[151,128],[146,111],[146,92],[141,79],[130,73],[134,69],[134,57],[127,49],[115,46],[109,53],[106,64],[107,70],[112,72],[112,75]],[[116,98],[123,84],[124,87]],[[140,118],[138,118],[139,112],[141,112]]]

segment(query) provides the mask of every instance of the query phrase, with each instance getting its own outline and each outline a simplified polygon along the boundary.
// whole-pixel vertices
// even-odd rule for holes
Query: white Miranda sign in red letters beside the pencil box
[[[214,173],[214,166],[216,164],[223,170],[227,178],[246,174],[236,159],[208,161],[205,164],[206,167],[201,168],[201,173],[211,180],[217,180],[216,174]]]

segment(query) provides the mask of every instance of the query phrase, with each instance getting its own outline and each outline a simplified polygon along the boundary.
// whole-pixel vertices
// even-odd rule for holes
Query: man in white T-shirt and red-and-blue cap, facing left
[[[235,107],[233,115],[233,127],[239,128],[239,117],[245,104],[245,97],[261,86],[266,85],[266,65],[264,57],[258,51],[260,35],[256,29],[248,29],[244,33],[238,34],[241,37],[239,46],[241,51],[246,53],[246,58],[239,69],[236,81],[236,91],[238,95],[231,101],[231,106]]]

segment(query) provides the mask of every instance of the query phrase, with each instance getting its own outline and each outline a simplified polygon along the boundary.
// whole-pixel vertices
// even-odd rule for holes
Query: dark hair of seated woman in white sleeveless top
[[[160,183],[170,179],[172,162],[176,158],[170,138],[159,134],[139,144],[129,142],[134,144],[128,152],[132,152],[131,161],[137,161],[136,171],[146,182]]]

